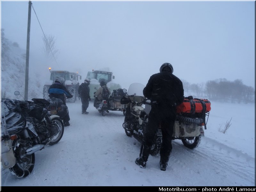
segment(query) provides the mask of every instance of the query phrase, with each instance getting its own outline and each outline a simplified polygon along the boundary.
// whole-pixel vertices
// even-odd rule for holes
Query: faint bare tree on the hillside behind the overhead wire
[[[59,54],[59,49],[56,48],[56,38],[53,35],[46,35],[42,37],[44,41],[44,54],[49,58],[56,58]]]

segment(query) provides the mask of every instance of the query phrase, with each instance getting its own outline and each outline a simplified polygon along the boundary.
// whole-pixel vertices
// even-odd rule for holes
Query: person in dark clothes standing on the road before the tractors
[[[78,88],[78,94],[81,98],[82,102],[82,114],[88,114],[87,108],[89,107],[89,101],[91,100],[90,97],[90,79],[86,78],[84,79],[84,83],[82,83]]]

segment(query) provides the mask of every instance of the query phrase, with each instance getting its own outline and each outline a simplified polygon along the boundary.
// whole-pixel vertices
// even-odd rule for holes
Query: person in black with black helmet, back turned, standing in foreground
[[[141,168],[146,168],[146,162],[159,124],[161,124],[162,130],[159,162],[162,171],[166,170],[172,152],[172,133],[176,118],[176,106],[184,100],[183,84],[172,72],[172,65],[164,63],[160,67],[160,73],[152,75],[143,89],[144,96],[151,100],[151,111],[140,148],[140,157],[135,160],[135,163],[140,165]]]

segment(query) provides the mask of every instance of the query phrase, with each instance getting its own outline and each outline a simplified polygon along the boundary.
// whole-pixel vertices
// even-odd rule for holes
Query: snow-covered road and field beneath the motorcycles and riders
[[[35,153],[34,170],[26,178],[2,168],[1,185],[255,186],[254,104],[211,103],[200,145],[191,150],[174,140],[165,172],[159,154],[149,156],[146,169],[134,163],[140,143],[126,136],[122,112],[103,117],[90,102],[89,114],[82,115],[80,100],[67,103],[71,125],[60,142]],[[226,134],[219,132],[231,117]]]

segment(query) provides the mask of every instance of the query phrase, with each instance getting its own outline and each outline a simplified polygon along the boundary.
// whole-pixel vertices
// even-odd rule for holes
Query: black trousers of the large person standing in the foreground
[[[176,118],[176,107],[171,104],[158,103],[151,105],[151,111],[148,116],[148,124],[141,145],[141,157],[144,161],[148,160],[150,149],[154,142],[157,129],[161,124],[162,146],[160,149],[160,161],[167,164],[172,152],[172,133]]]

